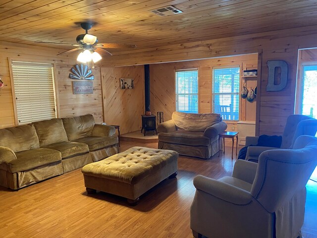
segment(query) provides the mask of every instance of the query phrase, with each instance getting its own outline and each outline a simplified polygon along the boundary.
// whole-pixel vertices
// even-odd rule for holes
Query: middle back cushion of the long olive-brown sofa
[[[68,141],[61,119],[41,120],[32,123],[39,137],[40,146]]]

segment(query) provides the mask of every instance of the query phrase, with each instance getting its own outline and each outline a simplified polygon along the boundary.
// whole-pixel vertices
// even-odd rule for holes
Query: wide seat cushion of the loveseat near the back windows
[[[159,141],[192,146],[208,146],[211,143],[210,138],[204,136],[204,132],[187,130],[159,133]]]

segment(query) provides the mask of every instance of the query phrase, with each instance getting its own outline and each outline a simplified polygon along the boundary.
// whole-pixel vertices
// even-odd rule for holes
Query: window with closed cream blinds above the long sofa
[[[12,61],[18,124],[56,118],[53,64]]]

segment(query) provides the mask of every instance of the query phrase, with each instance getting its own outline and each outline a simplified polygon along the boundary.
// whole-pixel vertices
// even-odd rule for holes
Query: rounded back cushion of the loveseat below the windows
[[[173,112],[172,120],[178,130],[205,131],[205,129],[221,120],[215,113],[180,113]]]

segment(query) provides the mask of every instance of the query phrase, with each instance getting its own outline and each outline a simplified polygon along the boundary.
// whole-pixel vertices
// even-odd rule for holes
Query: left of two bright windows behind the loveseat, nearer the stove
[[[176,70],[176,111],[198,113],[198,70]]]

